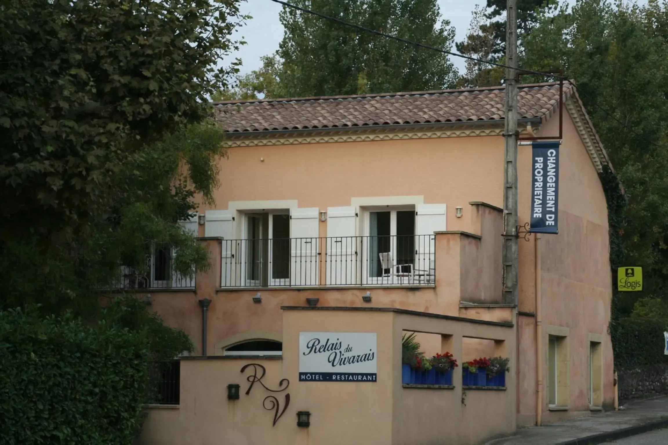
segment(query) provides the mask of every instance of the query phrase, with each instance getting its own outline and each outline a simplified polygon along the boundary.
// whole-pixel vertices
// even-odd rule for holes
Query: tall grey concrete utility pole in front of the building
[[[517,0],[506,9],[506,149],[504,152],[503,302],[517,304]]]

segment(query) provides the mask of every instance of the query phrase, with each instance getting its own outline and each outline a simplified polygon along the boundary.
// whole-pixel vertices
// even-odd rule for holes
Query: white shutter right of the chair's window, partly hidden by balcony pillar
[[[415,269],[423,271],[427,282],[434,283],[436,236],[446,230],[445,204],[418,204],[415,209]]]

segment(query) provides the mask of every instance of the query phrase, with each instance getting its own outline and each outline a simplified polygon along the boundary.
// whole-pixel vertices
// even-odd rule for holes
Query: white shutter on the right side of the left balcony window
[[[317,286],[319,209],[307,207],[290,211],[290,284]]]

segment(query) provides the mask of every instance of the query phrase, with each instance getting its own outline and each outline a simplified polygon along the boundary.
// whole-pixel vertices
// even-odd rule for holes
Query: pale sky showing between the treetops
[[[575,0],[568,0],[568,3],[573,4]],[[647,3],[647,0],[639,0],[639,3]],[[450,20],[457,31],[455,41],[462,41],[466,36],[471,22],[471,13],[477,4],[484,5],[486,0],[438,0],[441,15],[444,19]],[[242,74],[259,68],[261,56],[279,49],[279,42],[283,39],[283,26],[279,22],[281,8],[279,3],[271,0],[246,0],[242,3],[242,12],[252,15],[253,19],[248,20],[246,25],[238,31],[237,37],[243,36],[248,44],[234,52],[229,59],[230,61],[233,57],[242,59]],[[450,50],[455,51],[454,47]],[[460,72],[464,71],[464,59],[460,57],[452,59],[457,69]]]

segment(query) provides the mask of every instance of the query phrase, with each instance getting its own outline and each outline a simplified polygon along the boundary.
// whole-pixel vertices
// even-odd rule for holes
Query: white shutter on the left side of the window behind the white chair
[[[359,272],[355,207],[327,207],[325,271],[329,286],[355,284]]]

